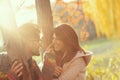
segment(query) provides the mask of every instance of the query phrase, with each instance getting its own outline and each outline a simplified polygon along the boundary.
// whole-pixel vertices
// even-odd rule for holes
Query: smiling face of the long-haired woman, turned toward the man
[[[53,35],[53,46],[55,51],[63,51],[65,45],[62,40],[60,40],[55,34]]]

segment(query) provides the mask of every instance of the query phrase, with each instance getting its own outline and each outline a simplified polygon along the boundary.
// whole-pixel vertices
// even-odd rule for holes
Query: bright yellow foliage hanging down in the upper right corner
[[[85,18],[89,16],[96,25],[97,35],[120,37],[120,1],[119,0],[89,0],[83,3]]]

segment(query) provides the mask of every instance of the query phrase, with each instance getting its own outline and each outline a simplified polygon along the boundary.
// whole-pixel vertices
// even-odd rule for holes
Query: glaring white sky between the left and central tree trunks
[[[14,8],[18,27],[26,22],[36,23],[37,16],[34,0],[20,0],[19,2],[16,2],[16,0],[11,0],[11,3]]]

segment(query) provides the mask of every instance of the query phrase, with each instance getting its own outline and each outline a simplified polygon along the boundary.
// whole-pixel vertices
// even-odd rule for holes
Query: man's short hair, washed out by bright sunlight
[[[40,39],[39,26],[33,23],[23,24],[18,28],[19,34],[23,39]]]

